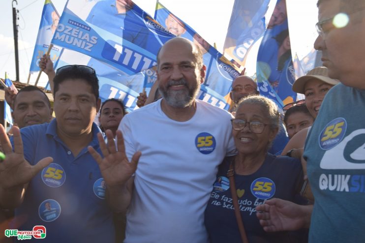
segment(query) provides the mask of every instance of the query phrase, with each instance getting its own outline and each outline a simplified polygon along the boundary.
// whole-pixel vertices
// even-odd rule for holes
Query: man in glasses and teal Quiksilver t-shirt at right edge
[[[314,47],[335,85],[304,146],[314,206],[269,200],[266,231],[309,227],[310,243],[365,242],[365,1],[319,0]]]

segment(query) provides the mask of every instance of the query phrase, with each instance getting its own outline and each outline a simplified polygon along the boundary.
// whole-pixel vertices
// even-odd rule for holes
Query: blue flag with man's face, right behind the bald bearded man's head
[[[202,51],[203,62],[207,67],[206,79],[204,86],[202,86],[207,87],[207,89],[202,89],[202,93],[208,92],[210,96],[215,97],[217,100],[226,96],[232,88],[232,81],[240,76],[240,72],[236,70],[233,64],[204,40],[194,29],[158,1],[156,3],[154,18],[172,34],[193,41]],[[214,92],[210,93],[211,91]],[[219,95],[219,97],[216,95]]]

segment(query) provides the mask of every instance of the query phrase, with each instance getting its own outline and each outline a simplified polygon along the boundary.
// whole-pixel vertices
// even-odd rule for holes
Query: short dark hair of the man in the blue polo
[[[59,90],[60,83],[62,83],[63,81],[67,79],[81,79],[90,84],[91,91],[95,95],[97,101],[99,99],[99,80],[97,79],[96,73],[91,73],[85,68],[78,68],[78,65],[73,65],[73,67],[74,68],[67,68],[59,73],[56,73],[56,76],[53,79],[53,96],[56,95],[56,92]]]

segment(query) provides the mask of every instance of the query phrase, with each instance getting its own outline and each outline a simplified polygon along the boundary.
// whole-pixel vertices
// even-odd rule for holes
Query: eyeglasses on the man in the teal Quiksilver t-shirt
[[[347,26],[348,22],[349,22],[349,18],[348,16],[351,14],[354,14],[356,12],[365,10],[365,7],[362,8],[358,8],[353,12],[349,12],[349,13],[337,13],[335,16],[319,21],[316,24],[316,29],[317,32],[320,36],[324,37],[331,29],[333,28],[342,28]],[[338,21],[336,20],[336,18],[338,18]],[[338,23],[335,23],[338,22]]]

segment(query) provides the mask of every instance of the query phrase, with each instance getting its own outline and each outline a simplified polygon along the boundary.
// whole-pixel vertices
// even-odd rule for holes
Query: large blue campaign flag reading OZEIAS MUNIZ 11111
[[[87,4],[67,1],[52,43],[89,55],[123,74],[155,66],[159,48],[174,37],[132,1],[101,0],[92,8]]]

